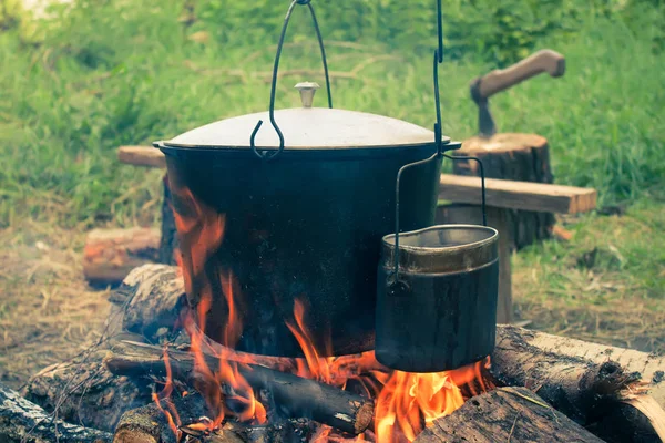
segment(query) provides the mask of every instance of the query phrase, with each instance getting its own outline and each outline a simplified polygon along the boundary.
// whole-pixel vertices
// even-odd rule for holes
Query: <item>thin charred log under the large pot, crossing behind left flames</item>
[[[104,359],[109,370],[122,375],[165,374],[163,350],[143,343],[122,342]],[[201,380],[194,356],[168,350],[174,377],[188,382]],[[205,356],[208,368],[218,365],[217,358]],[[367,430],[374,419],[371,401],[351,392],[256,364],[237,363],[238,372],[255,390],[269,392],[289,418],[309,418],[354,435]]]

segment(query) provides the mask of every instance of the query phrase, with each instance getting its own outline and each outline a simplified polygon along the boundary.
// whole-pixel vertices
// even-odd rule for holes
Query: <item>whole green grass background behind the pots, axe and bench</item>
[[[434,2],[314,4],[335,72],[336,107],[430,127]],[[520,316],[554,332],[665,349],[665,6],[443,4],[443,132],[463,140],[477,131],[471,79],[538,49],[556,50],[566,56],[564,78],[541,75],[492,97],[499,130],[544,135],[556,183],[595,187],[601,208],[626,209],[564,218],[572,241],[545,241],[514,256]],[[2,2],[0,228],[13,233],[2,238],[16,239],[34,224],[53,226],[59,236],[63,229],[156,224],[161,173],[119,164],[115,148],[266,110],[287,6],[80,0],[35,18],[18,0]],[[278,107],[298,105],[296,82],[323,84],[308,20],[298,8],[280,71],[315,72],[282,78]],[[76,238],[72,245],[80,250]],[[16,291],[19,282],[7,281],[3,289]],[[3,316],[11,309],[0,307]]]

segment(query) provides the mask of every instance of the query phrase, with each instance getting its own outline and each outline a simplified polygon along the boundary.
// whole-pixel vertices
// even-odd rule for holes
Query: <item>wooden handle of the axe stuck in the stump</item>
[[[549,49],[539,51],[533,55],[503,70],[495,70],[480,79],[479,92],[481,99],[489,99],[526,79],[548,72],[551,76],[561,76],[565,72],[565,59],[559,52]]]

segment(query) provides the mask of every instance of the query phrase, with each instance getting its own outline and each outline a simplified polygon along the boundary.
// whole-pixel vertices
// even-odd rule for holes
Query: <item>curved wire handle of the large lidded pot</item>
[[[273,128],[277,133],[279,137],[279,150],[277,151],[258,151],[256,148],[255,140],[258,130],[263,125],[263,120],[259,120],[252,131],[252,135],[249,137],[249,145],[252,146],[252,152],[256,154],[263,161],[274,159],[277,155],[282,154],[284,151],[284,134],[279,130],[277,122],[275,121],[275,92],[277,89],[277,72],[279,70],[279,58],[282,56],[282,48],[284,47],[284,38],[286,37],[286,29],[288,28],[288,22],[290,20],[291,13],[296,4],[307,6],[309,9],[309,13],[311,16],[311,21],[314,22],[314,29],[316,31],[316,37],[318,39],[319,48],[321,50],[321,60],[324,63],[324,73],[326,75],[326,90],[328,92],[328,107],[332,107],[332,94],[330,93],[330,76],[328,74],[328,62],[326,60],[326,49],[324,48],[324,39],[321,37],[321,31],[318,25],[318,20],[316,19],[316,13],[314,12],[314,7],[311,6],[311,0],[293,0],[290,6],[288,7],[288,11],[286,11],[286,17],[284,18],[284,24],[282,27],[282,33],[279,34],[279,42],[277,43],[277,53],[275,54],[275,65],[273,66],[273,83],[270,85],[270,107],[269,107],[269,119]]]

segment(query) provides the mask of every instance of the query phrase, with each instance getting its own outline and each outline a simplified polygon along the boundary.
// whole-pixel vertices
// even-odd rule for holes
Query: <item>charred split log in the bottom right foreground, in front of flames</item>
[[[603,441],[524,388],[499,388],[434,421],[415,443]]]

